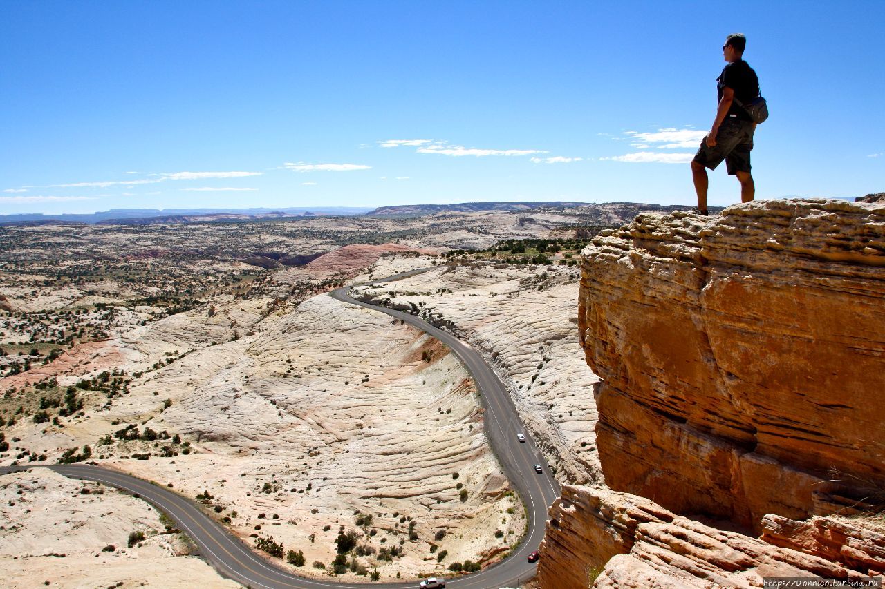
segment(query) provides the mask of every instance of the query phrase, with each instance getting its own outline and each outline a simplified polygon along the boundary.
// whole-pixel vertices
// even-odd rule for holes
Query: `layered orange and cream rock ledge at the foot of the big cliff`
[[[850,520],[772,520],[775,545],[589,486],[565,486],[550,518],[538,564],[544,589],[749,589],[766,577],[861,580],[885,570],[881,532]]]

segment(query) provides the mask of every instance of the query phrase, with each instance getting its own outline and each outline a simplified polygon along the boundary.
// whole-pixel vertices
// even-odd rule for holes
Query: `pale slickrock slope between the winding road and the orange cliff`
[[[402,272],[401,265],[389,265],[395,263],[381,258],[373,275]],[[577,342],[577,280],[576,267],[441,265],[353,293],[413,309],[484,351],[558,480],[586,483],[600,478],[596,407],[585,393],[598,379]]]

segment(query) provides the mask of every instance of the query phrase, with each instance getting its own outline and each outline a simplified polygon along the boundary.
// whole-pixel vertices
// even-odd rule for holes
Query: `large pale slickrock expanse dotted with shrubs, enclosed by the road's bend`
[[[229,311],[248,327],[258,315],[240,304]],[[366,547],[359,569],[382,577],[484,562],[519,539],[525,516],[482,435],[473,382],[435,340],[327,295],[217,345],[204,342],[223,313],[195,313],[135,327],[133,363],[120,367],[163,350],[173,363],[105,410],[87,398],[87,417],[64,428],[7,428],[13,449],[54,461],[90,444],[97,463],[200,495],[250,544],[302,550],[306,575],[313,562],[326,574],[350,530]]]

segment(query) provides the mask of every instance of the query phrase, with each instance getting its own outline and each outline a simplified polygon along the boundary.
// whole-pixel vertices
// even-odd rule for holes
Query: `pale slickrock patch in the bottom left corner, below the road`
[[[112,488],[42,469],[0,478],[4,587],[240,586],[190,549],[155,509]]]

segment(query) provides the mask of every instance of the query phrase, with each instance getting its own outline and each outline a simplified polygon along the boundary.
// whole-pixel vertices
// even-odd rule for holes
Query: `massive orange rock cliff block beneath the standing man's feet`
[[[642,214],[583,256],[608,486],[757,531],[885,488],[885,205]]]

